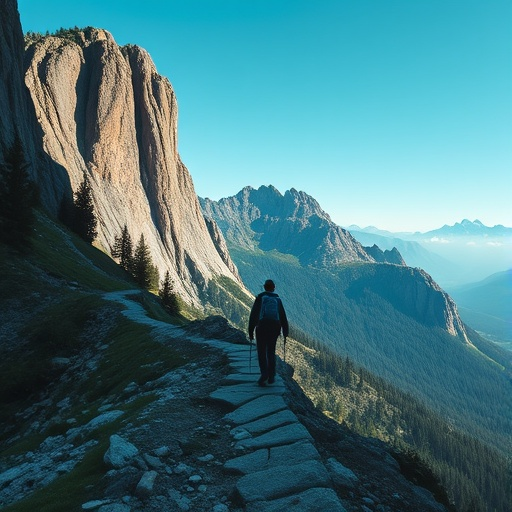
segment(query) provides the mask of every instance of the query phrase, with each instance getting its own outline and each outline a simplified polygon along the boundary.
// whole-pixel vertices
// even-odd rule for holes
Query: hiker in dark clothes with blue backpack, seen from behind
[[[284,343],[288,336],[288,320],[279,295],[274,293],[274,281],[267,279],[263,288],[265,291],[256,297],[249,317],[249,339],[251,341],[254,339],[256,330],[256,347],[261,373],[261,377],[258,379],[260,386],[265,386],[267,382],[274,383],[277,338],[281,329]]]

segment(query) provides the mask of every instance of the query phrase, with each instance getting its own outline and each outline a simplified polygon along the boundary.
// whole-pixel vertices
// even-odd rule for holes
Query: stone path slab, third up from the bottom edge
[[[301,441],[286,446],[256,450],[230,459],[224,463],[224,469],[246,475],[276,466],[298,464],[307,460],[320,460],[320,454],[311,443]]]

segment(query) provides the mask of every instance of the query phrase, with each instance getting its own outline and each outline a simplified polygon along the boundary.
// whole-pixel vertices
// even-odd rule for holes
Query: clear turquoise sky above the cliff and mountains
[[[173,84],[201,197],[294,187],[339,225],[512,226],[510,0],[18,0]]]

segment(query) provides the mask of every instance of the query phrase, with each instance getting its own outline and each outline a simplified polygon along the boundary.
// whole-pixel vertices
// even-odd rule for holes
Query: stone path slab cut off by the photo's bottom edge
[[[332,489],[308,489],[294,496],[249,503],[246,512],[346,512]]]

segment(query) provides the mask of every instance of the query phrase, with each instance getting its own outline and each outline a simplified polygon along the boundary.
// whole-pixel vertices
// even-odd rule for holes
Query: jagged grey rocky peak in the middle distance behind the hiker
[[[314,198],[293,188],[281,195],[272,186],[246,187],[218,202],[200,201],[205,215],[241,247],[275,249],[297,256],[303,265],[322,268],[375,261],[348,231],[331,221]]]

